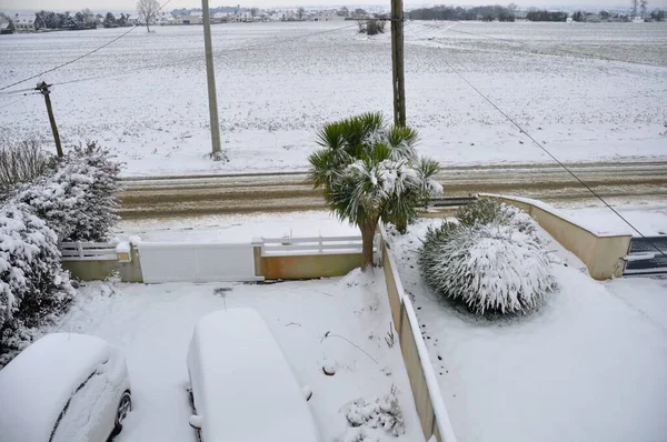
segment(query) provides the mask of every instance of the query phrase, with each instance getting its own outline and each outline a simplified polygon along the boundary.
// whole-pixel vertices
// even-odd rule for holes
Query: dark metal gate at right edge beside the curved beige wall
[[[633,238],[623,274],[667,274],[666,255],[667,235]]]

